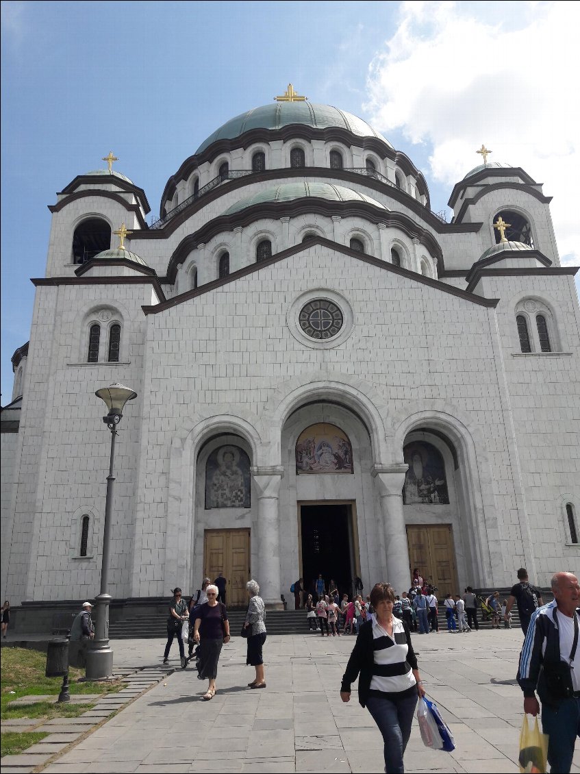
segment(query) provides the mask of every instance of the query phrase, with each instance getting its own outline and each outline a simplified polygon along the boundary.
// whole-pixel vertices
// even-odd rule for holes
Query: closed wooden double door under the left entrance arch
[[[212,582],[223,572],[227,580],[227,607],[241,607],[247,602],[246,583],[250,580],[250,530],[206,529],[203,567]]]

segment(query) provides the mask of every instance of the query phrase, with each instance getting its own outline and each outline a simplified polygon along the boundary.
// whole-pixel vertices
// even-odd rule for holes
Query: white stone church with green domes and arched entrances
[[[482,151],[447,223],[408,156],[289,88],[207,138],[152,224],[112,153],[63,188],[2,409],[2,598],[97,594],[113,382],[138,394],[114,598],[578,570],[576,269],[541,184]]]

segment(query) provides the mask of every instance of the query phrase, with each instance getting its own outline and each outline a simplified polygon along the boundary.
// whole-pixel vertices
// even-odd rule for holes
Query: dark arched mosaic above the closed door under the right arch
[[[415,442],[403,450],[409,469],[404,477],[403,502],[449,505],[445,463],[432,444]]]

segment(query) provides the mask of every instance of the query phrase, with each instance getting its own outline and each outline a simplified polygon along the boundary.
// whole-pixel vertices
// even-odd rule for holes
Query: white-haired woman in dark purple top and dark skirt
[[[230,642],[230,622],[227,620],[226,606],[217,601],[217,586],[206,587],[207,601],[195,610],[193,639],[200,644],[200,680],[209,680],[204,700],[209,701],[216,695],[217,662],[224,642]]]

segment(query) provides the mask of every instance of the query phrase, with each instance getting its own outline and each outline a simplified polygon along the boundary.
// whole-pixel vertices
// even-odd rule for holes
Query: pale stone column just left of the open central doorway
[[[258,495],[258,571],[254,578],[260,584],[266,608],[282,610],[278,493],[284,468],[252,467],[251,474]]]

